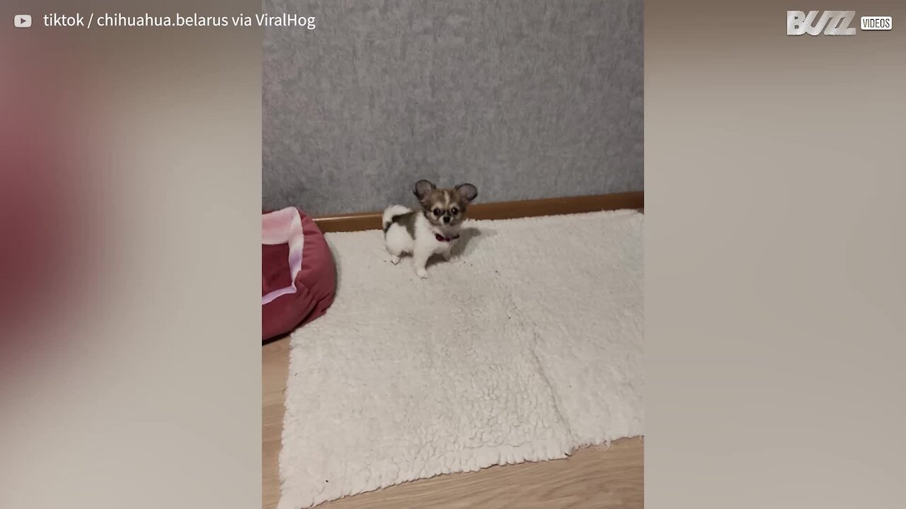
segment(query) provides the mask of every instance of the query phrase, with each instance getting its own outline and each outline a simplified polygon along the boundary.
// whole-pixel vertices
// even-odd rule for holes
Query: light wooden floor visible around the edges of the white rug
[[[289,339],[262,347],[264,460],[262,507],[280,498],[277,455],[283,430],[284,386],[289,370]],[[643,506],[643,438],[590,447],[567,458],[521,465],[492,466],[479,472],[439,475],[350,496],[319,509],[628,509]]]

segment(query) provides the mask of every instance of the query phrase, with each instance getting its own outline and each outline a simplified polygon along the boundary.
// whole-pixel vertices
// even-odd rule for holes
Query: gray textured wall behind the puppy
[[[265,0],[264,206],[641,190],[641,0]]]

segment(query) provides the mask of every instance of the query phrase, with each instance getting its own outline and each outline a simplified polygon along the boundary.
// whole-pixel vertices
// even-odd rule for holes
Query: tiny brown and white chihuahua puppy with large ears
[[[439,189],[428,180],[419,180],[413,193],[419,198],[420,210],[393,205],[384,211],[384,242],[394,265],[400,263],[401,255],[410,254],[415,274],[425,279],[425,265],[431,255],[443,255],[449,261],[459,226],[478,189],[471,184]]]

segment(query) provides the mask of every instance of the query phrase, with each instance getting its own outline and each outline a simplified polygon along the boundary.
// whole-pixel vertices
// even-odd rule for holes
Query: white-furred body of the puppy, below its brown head
[[[383,215],[383,226],[387,228],[393,216],[400,216],[411,212],[412,209],[401,205],[391,205],[387,207]],[[431,255],[442,255],[445,260],[450,259],[453,244],[456,240],[450,242],[439,241],[435,235],[452,238],[459,235],[459,225],[456,226],[434,226],[424,214],[420,212],[416,215],[415,237],[409,235],[406,226],[392,224],[384,235],[384,243],[387,245],[387,252],[390,253],[390,262],[392,264],[400,263],[400,256],[412,255],[412,268],[415,274],[420,278],[428,278],[428,259]]]

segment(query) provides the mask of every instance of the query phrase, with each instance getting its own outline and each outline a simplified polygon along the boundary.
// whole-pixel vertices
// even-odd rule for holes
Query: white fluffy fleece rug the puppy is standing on
[[[380,231],[328,234],[339,289],[291,339],[279,509],[641,435],[643,221],[471,222],[424,281]]]

